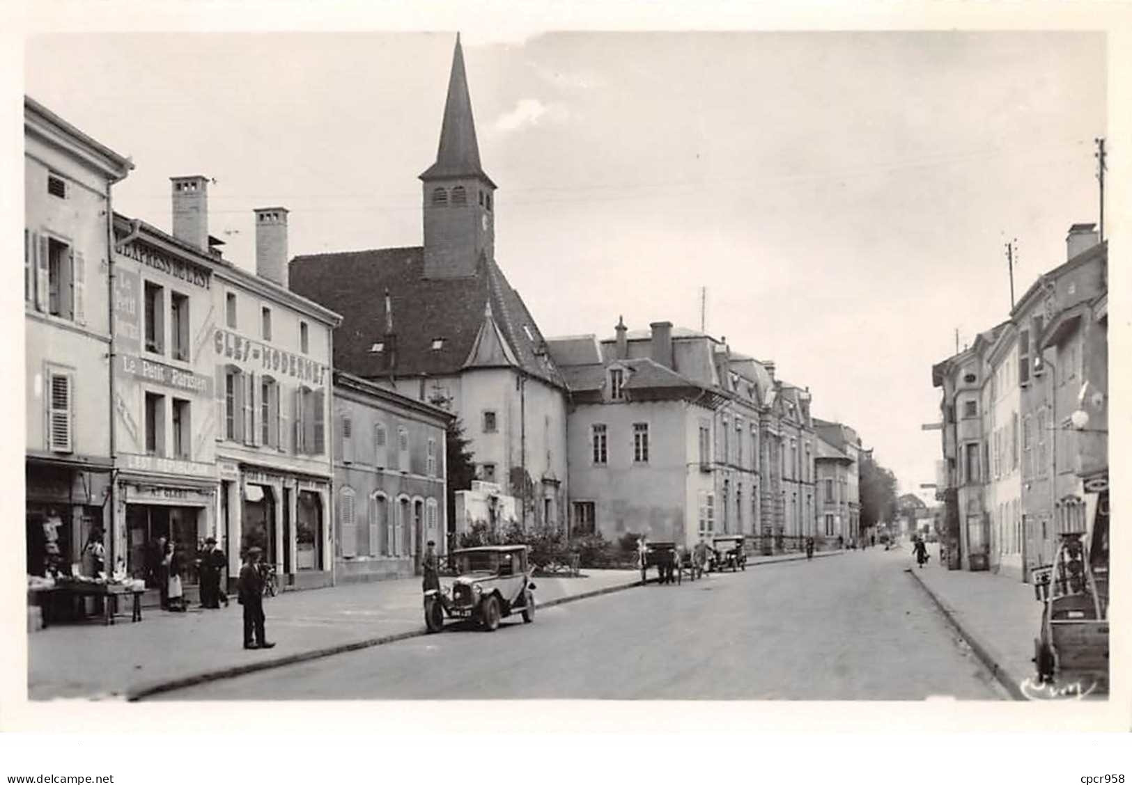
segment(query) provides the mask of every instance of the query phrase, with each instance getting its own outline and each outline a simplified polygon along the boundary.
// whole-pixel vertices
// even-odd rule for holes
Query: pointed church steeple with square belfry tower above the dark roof
[[[496,184],[480,164],[458,34],[436,163],[420,179],[424,186],[424,277],[475,275],[481,255],[495,257]]]

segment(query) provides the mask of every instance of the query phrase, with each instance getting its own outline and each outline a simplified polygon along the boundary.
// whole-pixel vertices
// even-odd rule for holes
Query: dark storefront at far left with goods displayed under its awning
[[[28,575],[44,575],[49,568],[72,571],[91,532],[105,530],[110,467],[92,469],[66,461],[28,460],[25,481]]]

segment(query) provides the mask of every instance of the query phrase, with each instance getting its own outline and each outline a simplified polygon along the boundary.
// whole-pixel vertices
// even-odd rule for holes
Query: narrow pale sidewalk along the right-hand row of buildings
[[[908,551],[911,575],[944,615],[959,629],[995,679],[1018,700],[1022,682],[1035,675],[1034,639],[1041,623],[1041,603],[1034,587],[993,572],[949,570],[940,566],[937,547],[919,569]]]

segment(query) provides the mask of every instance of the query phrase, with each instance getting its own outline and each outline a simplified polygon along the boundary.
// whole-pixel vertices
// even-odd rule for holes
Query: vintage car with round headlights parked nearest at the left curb
[[[484,545],[455,551],[451,586],[424,592],[424,626],[439,632],[448,619],[469,619],[492,632],[499,621],[521,613],[534,621],[534,583],[526,568],[526,545]]]

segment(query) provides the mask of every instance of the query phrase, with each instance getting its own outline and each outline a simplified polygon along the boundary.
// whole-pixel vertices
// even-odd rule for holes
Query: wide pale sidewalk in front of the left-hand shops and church
[[[838,555],[823,552],[815,558]],[[805,559],[758,557],[748,567]],[[650,579],[654,578],[651,571]],[[535,577],[547,607],[641,583],[636,570],[584,570],[580,578]],[[28,698],[134,699],[173,687],[231,678],[424,635],[420,578],[285,592],[264,603],[269,652],[241,646],[242,612],[146,610],[140,623],[59,624],[28,636]],[[269,696],[265,696],[269,697]]]

